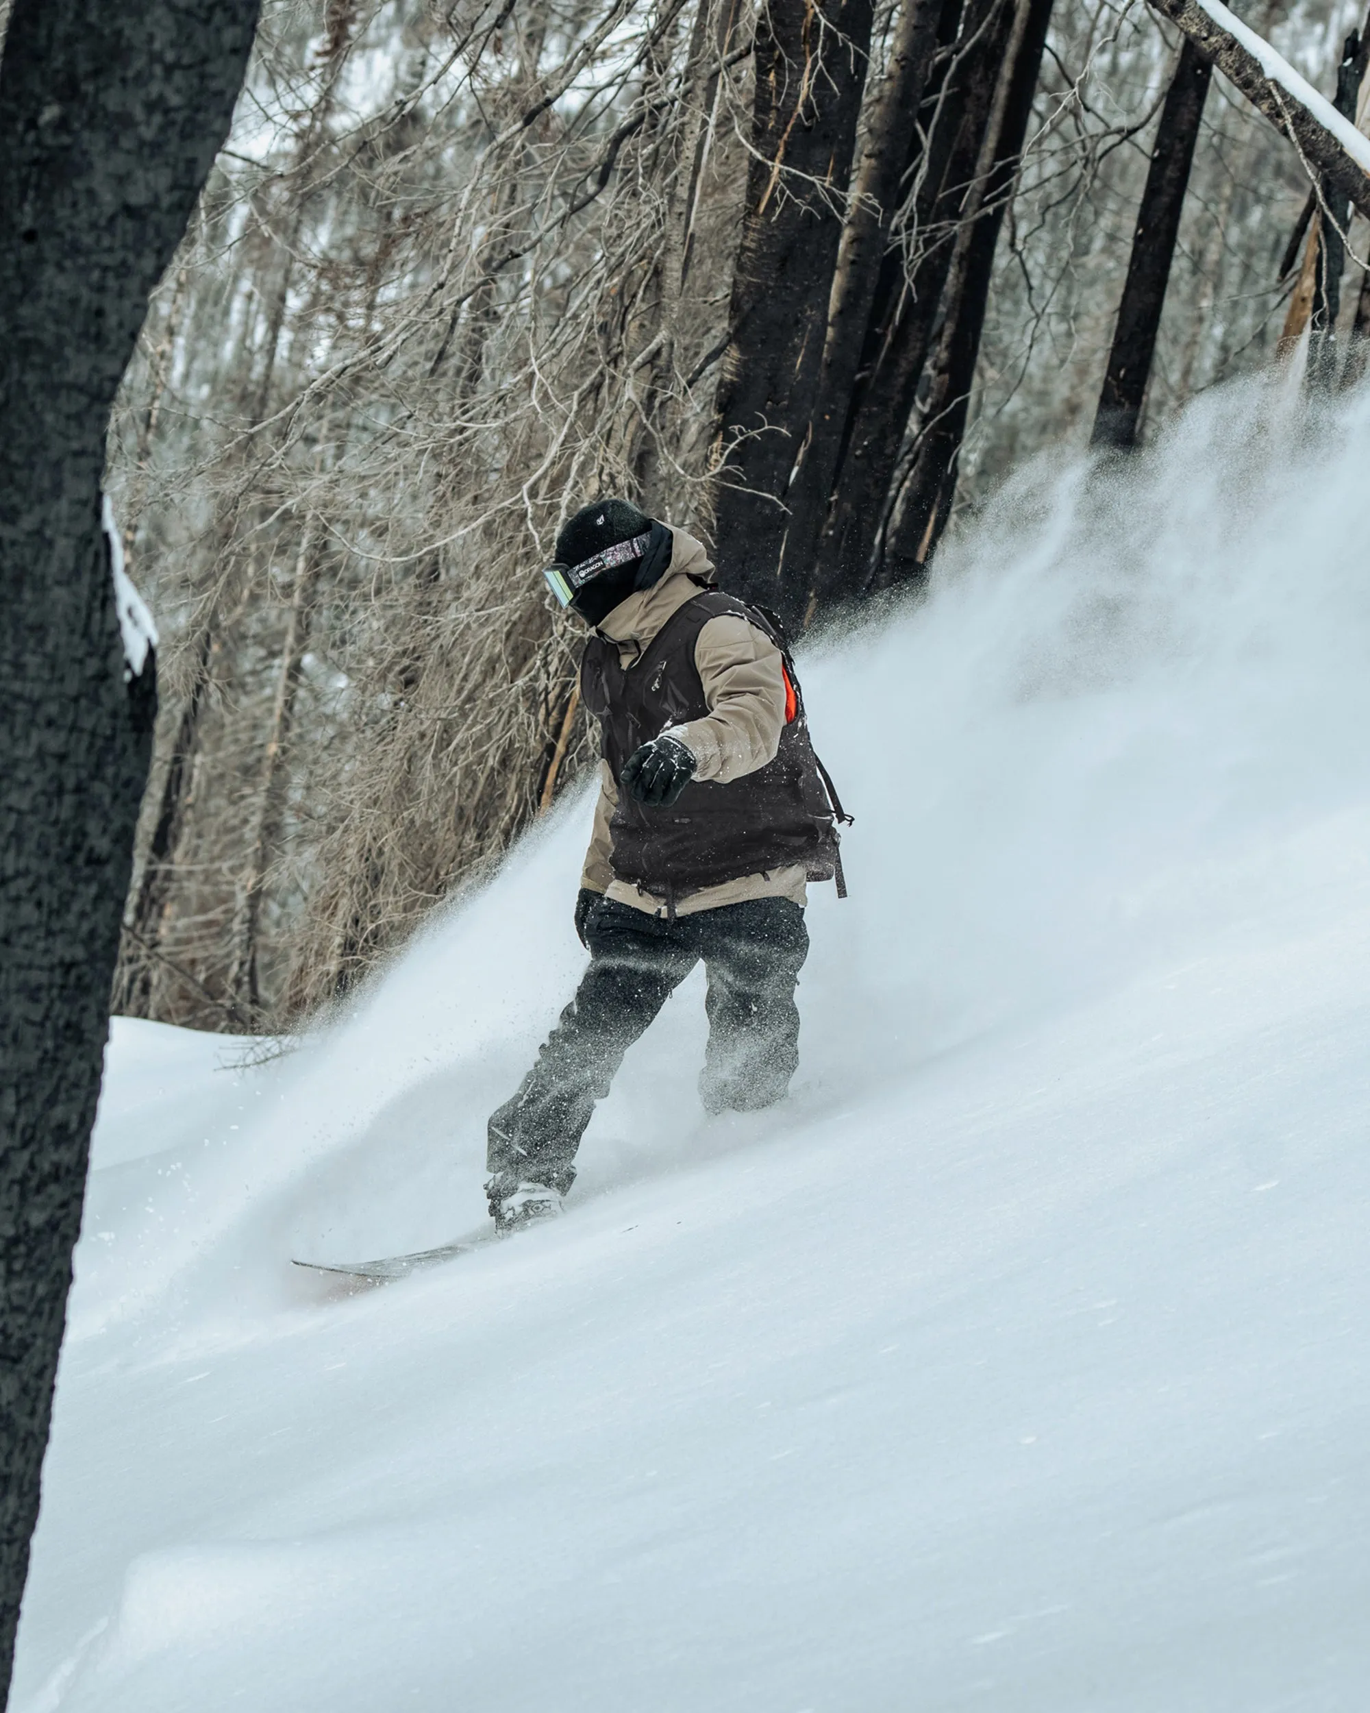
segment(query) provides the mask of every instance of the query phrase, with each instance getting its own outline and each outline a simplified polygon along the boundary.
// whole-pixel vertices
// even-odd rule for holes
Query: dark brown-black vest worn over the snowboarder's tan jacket
[[[831,880],[837,865],[832,803],[808,740],[784,636],[765,613],[721,589],[697,594],[671,613],[627,670],[613,642],[598,632],[589,639],[581,695],[599,719],[605,761],[618,779],[639,745],[666,726],[707,716],[695,642],[704,625],[723,613],[754,624],[781,649],[795,716],[786,721],[776,759],[730,785],[692,779],[668,809],[649,809],[620,790],[610,822],[613,872],[666,899],[793,863],[801,863],[810,880]]]

